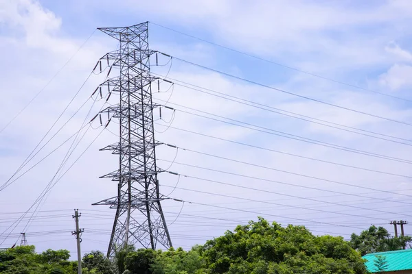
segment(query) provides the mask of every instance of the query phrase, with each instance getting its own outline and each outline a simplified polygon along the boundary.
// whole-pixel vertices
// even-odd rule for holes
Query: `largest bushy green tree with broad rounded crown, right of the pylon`
[[[314,236],[303,226],[260,218],[209,240],[201,250],[211,273],[367,273],[359,253],[341,237]]]

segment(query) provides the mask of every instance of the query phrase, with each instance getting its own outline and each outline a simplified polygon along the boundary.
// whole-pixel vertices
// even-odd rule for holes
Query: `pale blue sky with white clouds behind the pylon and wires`
[[[411,1],[0,0],[1,247],[75,251],[79,208],[82,251],[106,251],[118,125],[88,123],[117,103],[90,97],[117,42],[95,29],[146,21],[174,57],[151,61],[175,82],[153,88],[175,247],[258,216],[344,238],[411,219]]]

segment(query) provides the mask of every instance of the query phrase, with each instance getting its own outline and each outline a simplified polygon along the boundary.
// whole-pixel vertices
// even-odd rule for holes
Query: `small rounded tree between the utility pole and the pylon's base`
[[[82,272],[90,274],[113,274],[113,264],[100,251],[91,251],[82,258]]]

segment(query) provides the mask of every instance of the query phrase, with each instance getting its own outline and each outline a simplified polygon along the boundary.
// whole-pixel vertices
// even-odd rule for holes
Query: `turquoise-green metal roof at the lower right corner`
[[[412,269],[412,249],[370,253],[363,256],[363,258],[367,260],[367,262],[365,262],[367,270],[372,273],[376,272],[376,267],[374,266],[376,255],[385,256],[388,266],[385,271],[400,271]]]

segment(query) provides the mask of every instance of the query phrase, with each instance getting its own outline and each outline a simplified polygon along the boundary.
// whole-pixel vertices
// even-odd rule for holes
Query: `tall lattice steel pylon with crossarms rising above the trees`
[[[117,195],[94,205],[108,205],[116,209],[115,221],[108,245],[107,256],[124,244],[140,244],[156,249],[159,245],[172,247],[168,227],[161,209],[161,201],[168,199],[159,193],[156,149],[153,125],[150,75],[148,23],[130,27],[104,27],[100,31],[119,41],[119,49],[100,59],[112,69],[119,69],[119,76],[108,78],[100,85],[119,95],[119,104],[102,110],[108,119],[119,119],[119,142],[101,150],[119,154],[119,169],[102,176],[111,177],[117,184]],[[95,69],[96,69],[95,67]],[[110,121],[110,120],[108,120]]]

